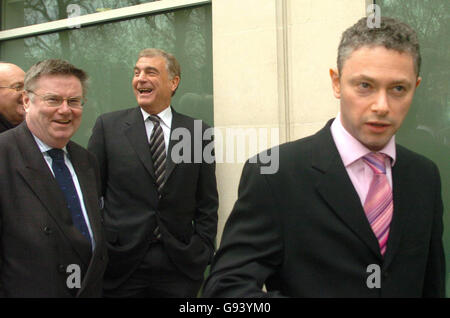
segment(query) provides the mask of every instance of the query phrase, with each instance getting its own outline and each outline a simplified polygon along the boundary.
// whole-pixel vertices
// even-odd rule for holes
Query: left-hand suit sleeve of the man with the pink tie
[[[204,297],[268,297],[263,284],[281,265],[283,244],[273,193],[260,166],[246,163],[238,200],[214,257]]]

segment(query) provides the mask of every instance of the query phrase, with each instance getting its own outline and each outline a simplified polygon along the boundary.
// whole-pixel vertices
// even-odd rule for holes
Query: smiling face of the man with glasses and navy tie
[[[67,101],[57,107],[48,106],[41,96],[82,97],[80,80],[73,75],[45,75],[37,80],[33,91],[36,95],[24,96],[28,128],[50,147],[63,148],[78,130],[83,109],[71,108]]]

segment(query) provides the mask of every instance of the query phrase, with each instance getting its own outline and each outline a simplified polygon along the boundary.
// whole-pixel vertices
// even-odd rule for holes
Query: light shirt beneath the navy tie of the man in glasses
[[[50,171],[52,172],[53,176],[55,176],[53,169],[52,169],[53,159],[47,153],[48,150],[53,149],[53,148],[48,146],[46,143],[44,143],[42,140],[40,140],[35,135],[33,135],[33,137],[34,137],[34,140],[36,140],[36,143],[37,143],[39,149],[41,150],[41,152],[44,156],[45,162],[47,163],[48,167],[50,168]],[[86,207],[84,206],[83,192],[81,191],[81,187],[80,187],[80,183],[78,182],[77,174],[75,173],[75,169],[73,168],[72,162],[69,159],[69,153],[67,152],[66,147],[64,147],[62,150],[64,152],[64,163],[66,164],[67,168],[69,168],[73,183],[75,185],[75,189],[77,190],[78,198],[80,199],[81,211],[83,212],[84,221],[86,222],[87,228],[89,230],[89,236],[91,237],[92,250],[94,250],[94,247],[95,247],[94,235],[92,234],[91,224],[89,222],[89,217],[86,212]]]

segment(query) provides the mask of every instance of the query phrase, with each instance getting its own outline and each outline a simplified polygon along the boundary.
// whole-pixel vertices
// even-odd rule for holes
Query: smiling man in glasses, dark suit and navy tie
[[[33,65],[25,77],[26,120],[0,135],[0,296],[102,295],[107,250],[98,166],[70,141],[86,79],[66,61]]]

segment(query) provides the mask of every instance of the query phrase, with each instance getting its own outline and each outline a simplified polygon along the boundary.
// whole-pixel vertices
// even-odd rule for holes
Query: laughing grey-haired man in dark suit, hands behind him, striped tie
[[[215,164],[202,156],[207,126],[171,107],[179,81],[171,54],[141,51],[139,107],[100,116],[89,140],[105,198],[105,297],[195,297],[214,254]]]

